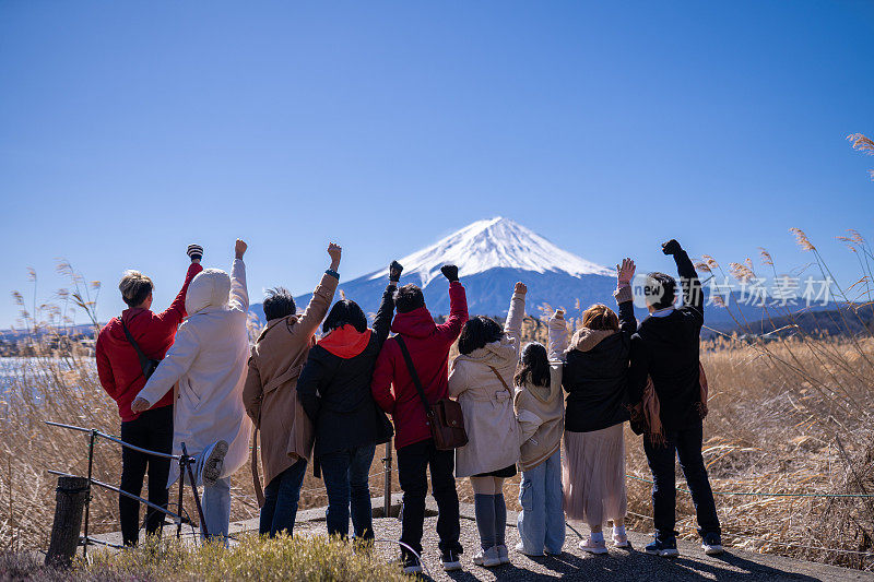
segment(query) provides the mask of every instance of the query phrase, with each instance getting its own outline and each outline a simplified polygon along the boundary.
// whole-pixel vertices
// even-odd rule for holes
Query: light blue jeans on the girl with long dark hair
[[[524,553],[560,554],[565,545],[560,449],[534,468],[522,472],[519,503],[522,511],[517,526]]]

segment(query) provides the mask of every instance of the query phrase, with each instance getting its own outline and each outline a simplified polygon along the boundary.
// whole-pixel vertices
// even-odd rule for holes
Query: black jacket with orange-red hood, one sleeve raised
[[[300,378],[297,392],[300,403],[312,420],[314,455],[388,442],[391,423],[370,395],[370,380],[376,358],[389,335],[394,311],[394,286],[382,294],[370,341],[358,355],[342,358],[316,345]]]

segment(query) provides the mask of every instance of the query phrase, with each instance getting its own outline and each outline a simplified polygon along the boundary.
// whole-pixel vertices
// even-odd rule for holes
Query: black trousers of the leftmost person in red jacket
[[[173,452],[173,406],[146,411],[135,420],[121,423],[121,440],[150,451]],[[166,508],[168,491],[167,478],[170,472],[169,459],[121,449],[122,491],[138,497],[143,489],[143,477],[149,471],[149,501]],[[118,498],[118,513],[121,520],[121,537],[126,546],[137,545],[140,534],[140,502],[123,495]],[[164,514],[149,508],[145,513],[145,532],[154,534],[164,524]]]

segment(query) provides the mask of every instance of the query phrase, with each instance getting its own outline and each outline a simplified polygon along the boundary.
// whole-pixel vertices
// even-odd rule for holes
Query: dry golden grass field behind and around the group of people
[[[815,253],[816,261],[820,260],[806,238],[800,242],[810,247],[806,250]],[[864,241],[859,246],[870,254]],[[718,265],[710,262],[701,268]],[[869,273],[864,277],[871,281]],[[854,317],[859,305],[855,300],[840,317]],[[543,325],[529,319],[524,334],[529,340],[543,340]],[[61,353],[49,347],[57,342],[46,337],[34,340],[34,357],[22,361],[17,380],[0,399],[3,548],[47,547],[55,477],[46,470],[86,472],[87,437],[46,426],[44,420],[118,432],[115,404],[99,388],[91,360],[76,356],[76,349]],[[874,338],[870,332],[822,336],[798,329],[791,337],[770,342],[741,340],[736,334],[705,342],[702,364],[710,383],[705,459],[713,489],[719,492],[717,503],[727,544],[874,568],[874,498],[827,497],[874,494],[873,363]],[[640,438],[627,430],[626,446],[627,473],[647,479]],[[381,453],[380,448],[373,465],[374,495],[382,490]],[[118,447],[99,442],[95,478],[116,484],[119,471]],[[392,480],[397,491],[397,473]],[[518,480],[518,476],[509,479],[505,490],[513,509],[519,509]],[[685,484],[678,479],[678,485]],[[462,499],[472,500],[466,482],[459,482],[459,489]],[[648,483],[628,479],[634,528],[651,528],[649,495]],[[234,476],[233,496],[234,519],[257,515],[248,466]],[[681,491],[677,499],[681,534],[694,536],[690,498]],[[326,503],[322,483],[310,472],[300,507]],[[193,513],[191,508],[188,511]],[[91,524],[94,532],[118,528],[114,494],[94,492]]]

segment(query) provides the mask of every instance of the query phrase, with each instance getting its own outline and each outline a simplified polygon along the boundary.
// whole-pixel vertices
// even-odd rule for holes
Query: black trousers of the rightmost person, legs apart
[[[652,471],[652,511],[656,535],[669,539],[676,535],[676,458],[692,491],[692,501],[698,516],[698,534],[719,534],[719,518],[701,456],[704,427],[701,421],[682,430],[666,431],[665,444],[657,446],[643,437],[643,450]]]

